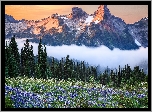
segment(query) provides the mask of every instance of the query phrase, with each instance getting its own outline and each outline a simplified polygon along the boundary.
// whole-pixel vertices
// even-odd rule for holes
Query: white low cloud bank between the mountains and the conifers
[[[25,39],[16,39],[19,52],[25,43]],[[38,54],[38,44],[33,45],[34,55]],[[115,48],[110,50],[105,46],[98,48],[88,48],[86,46],[63,45],[63,46],[46,46],[47,55],[57,59],[70,55],[70,59],[77,59],[88,62],[89,65],[100,65],[101,67],[118,68],[120,65],[124,67],[126,64],[133,68],[134,66],[145,61],[148,64],[148,48],[140,47],[138,50],[120,50]],[[147,65],[148,67],[148,65]]]

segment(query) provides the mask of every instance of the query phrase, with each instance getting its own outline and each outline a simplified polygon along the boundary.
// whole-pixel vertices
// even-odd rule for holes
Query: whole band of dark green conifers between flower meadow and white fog
[[[105,70],[104,73],[97,75],[96,66],[87,66],[85,61],[76,62],[70,59],[69,55],[61,60],[56,60],[54,57],[48,58],[46,47],[42,45],[41,39],[37,56],[34,56],[33,46],[29,45],[28,39],[19,53],[14,36],[9,45],[6,42],[5,46],[5,77],[17,76],[64,80],[70,78],[85,82],[89,82],[90,77],[93,77],[95,81],[103,85],[112,82],[114,86],[120,86],[124,81],[130,81],[131,84],[134,84],[135,81],[148,81],[148,75],[143,72],[143,69],[139,69],[139,66],[134,67],[133,70],[128,65],[125,65],[125,68],[119,66],[115,72],[111,70],[109,74]]]

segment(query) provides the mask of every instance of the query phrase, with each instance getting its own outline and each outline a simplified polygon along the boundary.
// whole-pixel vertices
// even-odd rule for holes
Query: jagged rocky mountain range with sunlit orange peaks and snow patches
[[[121,50],[148,47],[148,18],[134,24],[126,24],[121,18],[111,15],[107,5],[100,5],[94,14],[73,7],[69,15],[52,14],[41,20],[15,20],[5,14],[5,38],[12,35],[33,38],[30,41],[47,45],[107,46]],[[138,44],[137,44],[138,43]]]

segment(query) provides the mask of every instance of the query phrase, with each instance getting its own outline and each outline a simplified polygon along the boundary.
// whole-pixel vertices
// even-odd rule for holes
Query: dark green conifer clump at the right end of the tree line
[[[125,68],[120,68],[119,65],[118,72],[117,70],[116,72],[111,70],[110,76],[108,76],[108,73],[105,71],[98,79],[103,85],[112,83],[113,87],[120,87],[123,86],[122,84],[135,85],[136,82],[148,82],[148,75],[143,72],[143,69],[139,70],[139,66],[136,66],[131,70],[130,66],[127,64],[127,66],[125,65]]]

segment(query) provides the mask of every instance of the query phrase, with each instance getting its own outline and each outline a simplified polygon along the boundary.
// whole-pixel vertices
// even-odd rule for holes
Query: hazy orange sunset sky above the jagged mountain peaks
[[[82,8],[88,14],[93,14],[99,5],[6,5],[5,14],[15,19],[40,20],[53,13],[70,14],[72,7]],[[107,5],[111,14],[122,18],[126,23],[134,23],[148,17],[148,5]]]

